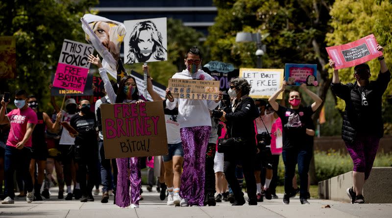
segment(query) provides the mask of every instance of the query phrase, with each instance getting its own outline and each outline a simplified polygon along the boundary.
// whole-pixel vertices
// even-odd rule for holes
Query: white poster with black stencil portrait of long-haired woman
[[[168,60],[166,18],[124,21],[125,64]]]

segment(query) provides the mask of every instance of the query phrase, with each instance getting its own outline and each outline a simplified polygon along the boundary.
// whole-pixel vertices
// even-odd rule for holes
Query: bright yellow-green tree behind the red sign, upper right
[[[385,51],[384,57],[388,66],[392,64],[392,3],[391,1],[380,0],[337,0],[333,4],[330,15],[333,17],[331,26],[332,33],[327,34],[329,46],[346,44],[369,34],[374,34],[378,44],[381,44]],[[369,61],[371,80],[377,78],[380,64],[377,59]],[[332,69],[329,69],[332,75]],[[339,78],[342,83],[353,83],[353,67],[339,70]],[[344,109],[345,104],[342,99],[338,99],[337,107]],[[392,133],[392,83],[389,84],[383,96],[383,117],[386,122],[385,131]]]

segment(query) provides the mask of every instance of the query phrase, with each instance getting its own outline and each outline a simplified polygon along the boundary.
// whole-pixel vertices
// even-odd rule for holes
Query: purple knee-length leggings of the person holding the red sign
[[[353,171],[365,173],[368,179],[376,158],[380,138],[374,134],[357,134],[353,143],[345,143],[354,164]]]

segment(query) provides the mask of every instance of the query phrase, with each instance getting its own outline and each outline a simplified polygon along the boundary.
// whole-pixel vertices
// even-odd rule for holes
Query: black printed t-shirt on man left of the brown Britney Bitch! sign
[[[73,129],[79,132],[75,138],[75,145],[97,144],[97,121],[93,112],[83,116],[80,116],[79,113],[75,114],[71,118],[70,124]]]

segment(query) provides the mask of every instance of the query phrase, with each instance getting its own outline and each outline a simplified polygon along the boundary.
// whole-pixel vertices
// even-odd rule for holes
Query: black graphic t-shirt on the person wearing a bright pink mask
[[[283,150],[300,148],[306,144],[306,126],[314,113],[312,106],[299,107],[299,109],[285,108],[279,105],[276,114],[282,120]]]

